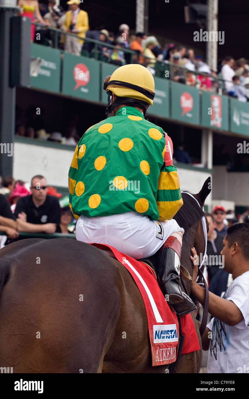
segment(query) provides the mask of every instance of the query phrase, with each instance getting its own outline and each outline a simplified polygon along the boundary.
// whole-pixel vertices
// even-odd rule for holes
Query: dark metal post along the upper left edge
[[[16,87],[9,85],[10,18],[18,9],[15,0],[0,0],[0,174],[12,176]],[[12,153],[11,153],[12,148]]]

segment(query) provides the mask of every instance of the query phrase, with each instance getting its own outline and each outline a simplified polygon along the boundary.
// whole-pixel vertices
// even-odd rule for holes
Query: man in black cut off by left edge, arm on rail
[[[14,217],[8,199],[0,194],[0,231],[5,231],[9,238],[17,238],[16,218]],[[3,237],[0,235],[0,238]],[[6,241],[6,237],[5,237]]]

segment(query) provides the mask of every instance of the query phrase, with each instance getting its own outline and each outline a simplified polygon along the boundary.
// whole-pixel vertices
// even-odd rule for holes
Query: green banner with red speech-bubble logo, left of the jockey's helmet
[[[64,53],[62,93],[80,99],[99,101],[99,62]]]

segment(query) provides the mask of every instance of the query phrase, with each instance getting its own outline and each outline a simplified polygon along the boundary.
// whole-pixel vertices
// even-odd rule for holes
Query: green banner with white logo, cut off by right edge
[[[249,103],[230,99],[230,130],[249,136]]]

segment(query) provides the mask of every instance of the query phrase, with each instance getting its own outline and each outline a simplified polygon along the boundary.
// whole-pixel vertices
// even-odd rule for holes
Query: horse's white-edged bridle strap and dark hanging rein
[[[189,196],[194,198],[195,201],[198,203],[197,199],[192,194],[190,194],[186,191],[182,191],[182,193],[188,194]],[[198,205],[200,207],[199,203],[198,203]],[[204,207],[202,207],[202,211],[204,211]],[[204,239],[205,239],[205,252],[204,252],[204,257],[202,258],[202,262],[201,262],[200,266],[198,267],[198,277],[197,277],[196,281],[198,282],[199,285],[204,285],[205,300],[204,300],[204,306],[203,306],[202,321],[201,321],[200,328],[199,328],[200,336],[202,336],[202,334],[204,333],[204,331],[206,329],[206,324],[208,321],[208,303],[209,303],[208,285],[207,285],[206,280],[201,271],[201,267],[206,264],[206,258],[207,258],[206,248],[207,248],[207,241],[208,241],[207,231],[206,231],[206,219],[205,219],[204,215],[202,216],[201,221],[202,221],[202,229],[203,229],[203,234],[204,234]]]

